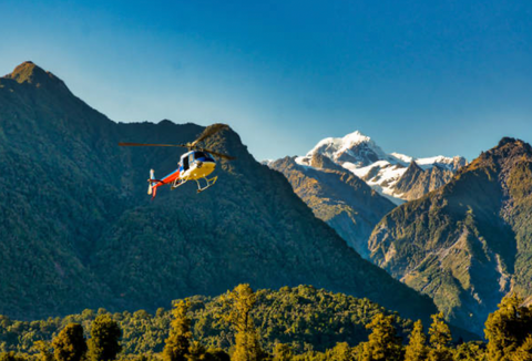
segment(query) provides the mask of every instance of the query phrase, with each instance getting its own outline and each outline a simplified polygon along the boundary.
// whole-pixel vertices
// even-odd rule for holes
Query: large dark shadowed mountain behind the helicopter
[[[434,311],[361,259],[258,164],[233,131],[206,142],[221,161],[216,185],[146,195],[181,149],[121,148],[119,141],[185,143],[194,124],[116,124],[32,63],[0,79],[0,313],[48,317],[105,307],[168,306],[241,282],[310,283],[367,297],[409,317]],[[339,176],[339,175],[338,175]]]

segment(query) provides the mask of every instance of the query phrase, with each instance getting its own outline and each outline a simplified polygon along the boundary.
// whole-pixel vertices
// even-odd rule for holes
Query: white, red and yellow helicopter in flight
[[[198,143],[205,141],[207,137],[228,128],[226,124],[216,123],[205,128],[203,133],[192,143],[185,144],[145,144],[145,143],[119,143],[119,146],[177,146],[188,148],[188,152],[183,154],[177,164],[177,169],[170,173],[161,179],[155,178],[155,173],[153,169],[150,171],[150,178],[147,179],[149,187],[147,194],[152,196],[152,199],[155,198],[157,194],[157,188],[160,186],[170,184],[171,189],[181,187],[188,180],[195,180],[197,184],[197,193],[211,188],[215,183],[218,176],[207,178],[211,173],[216,168],[216,161],[213,156],[224,158],[227,161],[233,161],[235,157],[217,153],[214,151],[206,149],[198,146]],[[201,180],[205,180],[205,185],[202,186]]]

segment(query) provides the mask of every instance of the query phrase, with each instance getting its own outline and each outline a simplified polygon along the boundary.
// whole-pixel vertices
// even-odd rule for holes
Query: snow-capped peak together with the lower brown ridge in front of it
[[[355,132],[325,138],[305,156],[265,164],[282,172],[318,218],[369,258],[368,239],[377,223],[398,204],[444,185],[467,161],[387,154]]]

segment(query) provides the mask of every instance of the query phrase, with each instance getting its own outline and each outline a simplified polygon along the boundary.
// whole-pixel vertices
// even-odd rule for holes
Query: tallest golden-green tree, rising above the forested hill
[[[235,351],[231,358],[233,361],[257,361],[264,358],[252,317],[256,300],[256,295],[249,285],[238,285],[224,297],[224,302],[231,309],[226,320],[236,331]]]

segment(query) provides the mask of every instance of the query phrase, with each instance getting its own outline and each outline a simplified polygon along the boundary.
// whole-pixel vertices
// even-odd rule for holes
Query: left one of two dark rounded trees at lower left
[[[80,361],[86,353],[83,327],[69,323],[52,341],[53,355],[57,361]]]

